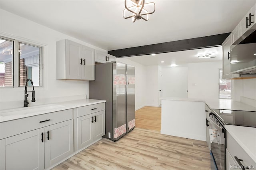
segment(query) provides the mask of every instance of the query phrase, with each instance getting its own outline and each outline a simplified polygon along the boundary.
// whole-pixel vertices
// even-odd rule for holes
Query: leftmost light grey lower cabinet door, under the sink
[[[43,170],[44,128],[0,140],[1,170]]]

